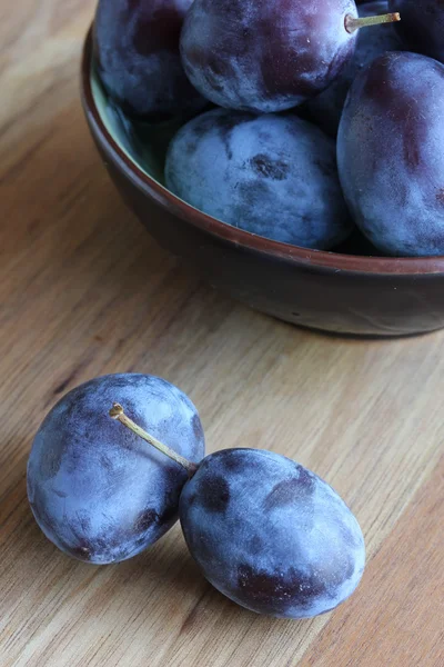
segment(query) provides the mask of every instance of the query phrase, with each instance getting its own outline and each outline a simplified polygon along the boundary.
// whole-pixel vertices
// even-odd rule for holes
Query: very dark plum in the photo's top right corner
[[[398,29],[408,49],[444,62],[443,0],[389,0],[389,4],[402,12]]]

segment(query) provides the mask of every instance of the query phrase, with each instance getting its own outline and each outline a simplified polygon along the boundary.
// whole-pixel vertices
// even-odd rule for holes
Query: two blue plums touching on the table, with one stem
[[[97,565],[140,554],[180,516],[208,580],[260,614],[329,611],[364,570],[361,528],[325,481],[262,449],[205,456],[195,407],[153,376],[103,376],[67,394],[34,438],[28,497],[50,540]]]

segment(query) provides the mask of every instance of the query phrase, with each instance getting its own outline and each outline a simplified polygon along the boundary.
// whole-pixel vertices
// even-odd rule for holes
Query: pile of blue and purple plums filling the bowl
[[[390,11],[401,22],[366,27]],[[101,0],[95,61],[133,119],[203,111],[165,166],[195,208],[307,248],[335,248],[357,225],[374,253],[443,255],[443,6],[359,13],[353,0]]]

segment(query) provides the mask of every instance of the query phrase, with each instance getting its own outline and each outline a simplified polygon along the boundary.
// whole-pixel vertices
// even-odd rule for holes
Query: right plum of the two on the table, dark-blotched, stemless
[[[320,477],[259,449],[206,456],[180,499],[188,547],[236,604],[282,618],[330,611],[365,566],[361,528]]]

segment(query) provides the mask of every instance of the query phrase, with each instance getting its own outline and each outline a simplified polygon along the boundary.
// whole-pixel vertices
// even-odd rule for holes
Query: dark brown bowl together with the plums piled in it
[[[82,101],[129,208],[324,331],[444,327],[441,0],[100,0]]]

